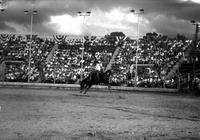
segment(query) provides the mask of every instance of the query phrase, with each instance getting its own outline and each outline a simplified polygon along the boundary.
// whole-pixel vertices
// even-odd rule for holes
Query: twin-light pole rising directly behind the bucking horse
[[[82,13],[82,12],[79,11],[79,12],[77,12],[77,13],[78,13],[78,16],[83,16],[83,25],[85,24],[85,23],[84,23],[85,17],[86,17],[86,16],[90,16],[90,14],[91,14],[90,11],[88,11],[88,12],[86,12],[86,13]],[[81,81],[82,81],[82,79],[83,79],[84,44],[85,44],[85,39],[84,39],[84,34],[83,34],[83,44],[82,44],[82,48],[81,48],[81,50],[82,50],[82,53],[81,53]]]

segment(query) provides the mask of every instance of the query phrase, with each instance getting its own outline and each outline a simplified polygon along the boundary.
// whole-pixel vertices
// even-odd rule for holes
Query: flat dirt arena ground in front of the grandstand
[[[198,140],[200,98],[0,88],[0,140]]]

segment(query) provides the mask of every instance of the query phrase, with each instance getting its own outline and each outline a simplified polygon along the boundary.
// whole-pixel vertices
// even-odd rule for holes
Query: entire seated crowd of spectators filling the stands
[[[139,39],[138,46],[137,40],[128,38],[120,46],[112,66],[112,84],[129,86],[135,84],[134,70],[136,53],[138,53],[138,64],[146,65],[138,67],[137,85],[163,86],[164,77],[184,56],[191,43],[191,40],[185,38],[169,38],[157,33],[147,33]],[[22,63],[11,63],[7,66],[5,81],[27,80],[29,47],[29,39],[15,39],[0,43],[0,50],[3,50],[0,60],[22,61]],[[91,42],[86,41],[83,48],[81,41],[65,40],[57,43],[53,39],[36,37],[33,39],[31,48],[32,82],[77,83],[81,71],[84,71],[84,77],[87,76],[94,68],[95,62],[101,63],[102,69],[105,69],[116,50],[116,45],[109,44],[104,38],[100,38]],[[82,52],[84,52],[83,69],[81,69]],[[175,79],[171,79],[168,85],[174,86],[175,82]]]

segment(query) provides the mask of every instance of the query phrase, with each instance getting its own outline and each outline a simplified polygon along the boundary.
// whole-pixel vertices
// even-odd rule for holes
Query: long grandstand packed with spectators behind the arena
[[[26,81],[29,35],[1,35],[0,39],[1,81]],[[105,37],[85,36],[83,39],[65,35],[33,36],[31,82],[77,83],[83,44],[84,77],[97,61],[102,63],[104,70],[113,70],[113,85],[134,85],[136,40],[128,37],[117,45],[117,39],[109,41]],[[139,39],[137,85],[180,88],[178,81],[189,81],[185,75],[197,73],[195,76],[198,76],[200,51],[199,46],[196,50],[192,46],[191,40],[147,33]]]

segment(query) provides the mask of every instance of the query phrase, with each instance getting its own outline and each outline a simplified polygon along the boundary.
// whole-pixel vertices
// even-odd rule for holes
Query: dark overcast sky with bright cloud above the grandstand
[[[200,21],[200,0],[3,0],[3,6],[0,33],[29,33],[30,16],[24,15],[24,10],[38,11],[33,32],[42,35],[104,36],[122,31],[136,36],[137,15],[130,10],[141,8],[144,14],[139,16],[140,35],[157,32],[192,36],[195,26],[190,20]],[[91,11],[91,15],[84,20],[77,11]]]

